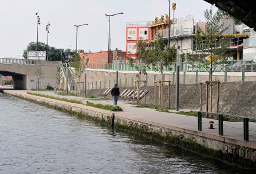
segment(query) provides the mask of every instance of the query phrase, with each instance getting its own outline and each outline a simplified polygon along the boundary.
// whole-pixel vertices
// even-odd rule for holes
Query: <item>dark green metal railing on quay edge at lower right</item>
[[[223,136],[224,135],[224,128],[233,128],[233,129],[239,129],[241,131],[243,131],[243,139],[245,141],[249,141],[249,131],[250,132],[256,132],[253,129],[249,129],[249,121],[256,121],[255,118],[250,118],[250,117],[242,117],[242,116],[234,116],[231,114],[223,114],[223,113],[213,113],[213,112],[204,112],[204,111],[199,111],[198,112],[198,131],[203,131],[203,123],[207,123],[207,122],[203,122],[202,121],[202,114],[211,114],[211,115],[215,115],[218,116],[218,124],[215,124],[218,126],[218,134]],[[236,117],[236,119],[239,121],[243,120],[243,127],[236,127],[236,124],[232,125],[232,124],[227,124],[227,122],[224,123],[224,118],[228,119],[229,118],[233,118]],[[210,122],[209,122],[210,123]],[[229,122],[231,123],[231,122]],[[210,124],[214,124],[213,122],[211,122]],[[209,129],[213,128],[213,126],[210,126]],[[229,132],[230,133],[230,132]]]

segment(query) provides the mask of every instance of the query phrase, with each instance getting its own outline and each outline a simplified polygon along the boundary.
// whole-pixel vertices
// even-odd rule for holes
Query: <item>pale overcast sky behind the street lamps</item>
[[[174,0],[177,3],[175,17],[192,15],[204,21],[204,10],[210,4],[203,0]],[[171,0],[172,2],[172,0]],[[28,43],[36,42],[37,17],[40,25],[38,41],[57,49],[76,48],[75,25],[78,28],[78,50],[105,51],[108,49],[108,20],[111,17],[111,49],[126,51],[126,23],[130,21],[153,21],[155,16],[169,13],[168,0],[0,0],[0,58],[22,57]],[[173,12],[171,11],[171,18]]]

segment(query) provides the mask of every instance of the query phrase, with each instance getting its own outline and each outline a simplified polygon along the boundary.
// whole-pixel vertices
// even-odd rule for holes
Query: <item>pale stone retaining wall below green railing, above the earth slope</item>
[[[87,88],[100,89],[113,87],[116,80],[116,71],[106,71],[101,69],[87,69]],[[119,87],[133,87],[134,80],[138,77],[137,71],[119,71],[118,84]],[[82,75],[81,81],[84,82],[85,75]],[[185,77],[185,80],[184,80]],[[163,79],[170,80],[171,84],[175,84],[175,74],[173,72],[164,72]],[[141,80],[147,80],[147,86],[154,86],[154,81],[162,79],[162,76],[158,72],[148,72],[147,75],[141,75]],[[198,82],[206,82],[209,80],[208,72],[198,73]],[[224,82],[224,72],[214,72],[213,80],[220,80]],[[195,72],[181,72],[180,84],[195,84],[196,73]],[[256,81],[256,73],[246,72],[246,82]],[[228,72],[227,82],[242,82],[242,72]]]

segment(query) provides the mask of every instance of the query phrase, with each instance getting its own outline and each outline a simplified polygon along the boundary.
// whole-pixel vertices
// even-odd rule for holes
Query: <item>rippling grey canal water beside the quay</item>
[[[0,173],[250,173],[0,93]]]

